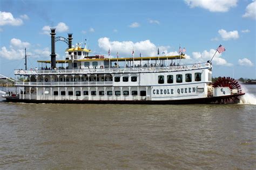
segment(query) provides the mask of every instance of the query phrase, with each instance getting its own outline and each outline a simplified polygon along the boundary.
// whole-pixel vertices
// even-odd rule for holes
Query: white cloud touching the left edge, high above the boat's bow
[[[20,18],[14,18],[10,12],[0,11],[0,26],[3,25],[12,25],[19,26],[22,25],[23,21]]]

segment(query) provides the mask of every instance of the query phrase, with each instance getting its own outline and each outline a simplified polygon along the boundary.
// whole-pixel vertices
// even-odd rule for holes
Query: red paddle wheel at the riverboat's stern
[[[231,77],[219,77],[217,81],[212,84],[213,87],[229,87],[230,90],[237,89],[237,93],[242,93],[242,88],[238,81]],[[218,103],[237,103],[239,102],[238,95],[228,96],[226,98],[221,98],[217,101]]]

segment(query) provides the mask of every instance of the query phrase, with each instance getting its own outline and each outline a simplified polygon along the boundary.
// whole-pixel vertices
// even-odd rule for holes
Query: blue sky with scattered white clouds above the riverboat
[[[73,45],[86,43],[91,55],[178,55],[180,46],[190,64],[210,60],[221,44],[213,77],[256,79],[255,11],[252,0],[0,0],[0,74],[25,68],[24,48],[29,69],[50,60],[56,27],[56,37],[73,33]],[[66,48],[56,42],[57,60]]]

